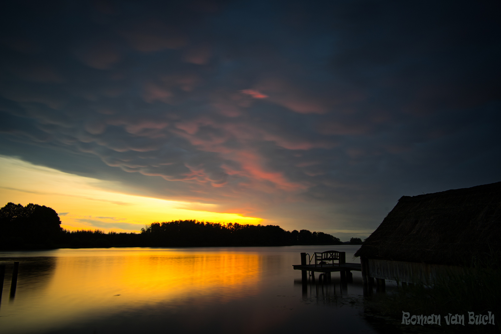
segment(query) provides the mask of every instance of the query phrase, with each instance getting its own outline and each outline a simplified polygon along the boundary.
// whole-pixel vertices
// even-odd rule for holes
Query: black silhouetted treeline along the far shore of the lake
[[[286,231],[277,225],[220,224],[196,220],[155,222],[141,233],[68,231],[61,228],[54,209],[38,204],[8,203],[0,209],[1,249],[176,247],[176,246],[288,246],[338,245],[339,238],[323,232]],[[359,244],[359,238],[352,238]]]

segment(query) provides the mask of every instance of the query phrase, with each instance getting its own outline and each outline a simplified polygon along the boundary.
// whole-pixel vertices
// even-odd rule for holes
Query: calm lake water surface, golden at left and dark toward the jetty
[[[333,273],[334,284],[305,291],[292,268],[302,251],[346,251],[347,262],[360,263],[352,259],[358,248],[1,251],[0,333],[376,333],[361,315],[360,272],[347,287]]]

